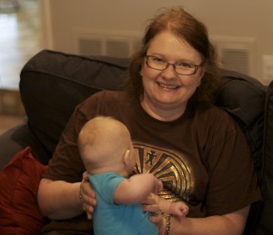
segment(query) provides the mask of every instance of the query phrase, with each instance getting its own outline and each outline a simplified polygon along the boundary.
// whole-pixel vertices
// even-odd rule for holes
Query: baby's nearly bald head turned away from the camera
[[[128,176],[136,165],[130,133],[112,117],[97,116],[86,122],[78,136],[78,148],[91,174],[111,171]]]

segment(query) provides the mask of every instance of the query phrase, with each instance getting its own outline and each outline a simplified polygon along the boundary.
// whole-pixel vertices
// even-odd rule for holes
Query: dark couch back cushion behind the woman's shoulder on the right
[[[224,70],[223,84],[217,97],[217,105],[232,115],[246,133],[259,180],[266,92],[267,87],[258,80],[245,74]]]

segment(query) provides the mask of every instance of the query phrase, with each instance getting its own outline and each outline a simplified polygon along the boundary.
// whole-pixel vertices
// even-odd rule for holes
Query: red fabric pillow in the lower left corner
[[[0,234],[41,233],[45,221],[36,197],[46,168],[26,147],[0,172]]]

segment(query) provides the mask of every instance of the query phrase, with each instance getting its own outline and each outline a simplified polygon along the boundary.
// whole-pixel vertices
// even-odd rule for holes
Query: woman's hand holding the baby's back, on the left
[[[83,202],[83,210],[86,211],[87,219],[91,220],[94,207],[96,206],[96,198],[95,192],[91,189],[87,171],[83,173],[83,180],[80,185],[80,198]]]

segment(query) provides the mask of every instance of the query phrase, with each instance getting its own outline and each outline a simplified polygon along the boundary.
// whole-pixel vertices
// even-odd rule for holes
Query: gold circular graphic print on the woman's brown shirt
[[[187,159],[181,153],[160,149],[157,146],[134,142],[136,173],[150,172],[163,182],[164,190],[160,196],[169,201],[189,201],[194,190],[192,173]]]

